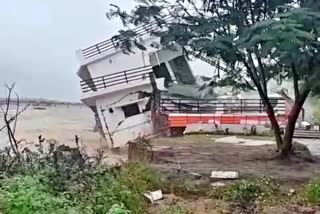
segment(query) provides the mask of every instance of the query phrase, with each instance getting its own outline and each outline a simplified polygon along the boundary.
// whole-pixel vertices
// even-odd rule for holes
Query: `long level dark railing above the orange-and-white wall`
[[[270,101],[275,113],[285,113],[284,99],[271,99]],[[260,99],[161,99],[160,106],[163,111],[170,113],[265,113]]]

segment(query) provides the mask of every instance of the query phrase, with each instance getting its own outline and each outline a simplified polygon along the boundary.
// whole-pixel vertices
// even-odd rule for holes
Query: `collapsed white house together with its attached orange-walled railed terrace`
[[[94,112],[97,129],[111,147],[194,123],[268,123],[259,99],[219,98],[212,91],[203,96],[183,48],[161,47],[160,38],[144,29],[136,29],[144,51],[133,47],[124,54],[111,39],[77,51],[81,100]],[[212,69],[210,60],[200,60]],[[284,101],[274,101],[284,116]]]

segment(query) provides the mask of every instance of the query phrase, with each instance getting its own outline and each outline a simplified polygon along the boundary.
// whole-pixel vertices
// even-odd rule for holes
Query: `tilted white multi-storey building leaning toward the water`
[[[145,51],[133,47],[125,54],[111,39],[77,51],[81,100],[95,113],[111,147],[154,133],[150,109],[157,85],[196,81],[182,48],[161,49],[159,38],[147,32],[137,37]]]

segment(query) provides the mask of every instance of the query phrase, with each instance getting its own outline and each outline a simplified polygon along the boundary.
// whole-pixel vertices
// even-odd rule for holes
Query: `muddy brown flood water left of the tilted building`
[[[14,113],[14,108],[11,109],[11,113]],[[3,125],[1,118],[0,127]],[[42,135],[46,139],[56,139],[59,143],[69,145],[74,144],[75,135],[78,135],[82,144],[96,148],[105,142],[99,133],[93,132],[93,127],[93,113],[85,106],[56,105],[44,109],[30,106],[18,118],[16,138],[31,143],[37,142],[38,136]],[[4,129],[0,132],[1,148],[7,143],[6,129]]]

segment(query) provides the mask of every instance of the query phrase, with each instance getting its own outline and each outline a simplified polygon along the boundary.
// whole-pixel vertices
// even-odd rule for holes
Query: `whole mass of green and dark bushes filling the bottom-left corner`
[[[109,168],[79,148],[39,148],[14,157],[0,153],[4,213],[141,214],[143,193],[160,188],[160,176],[143,164]]]

